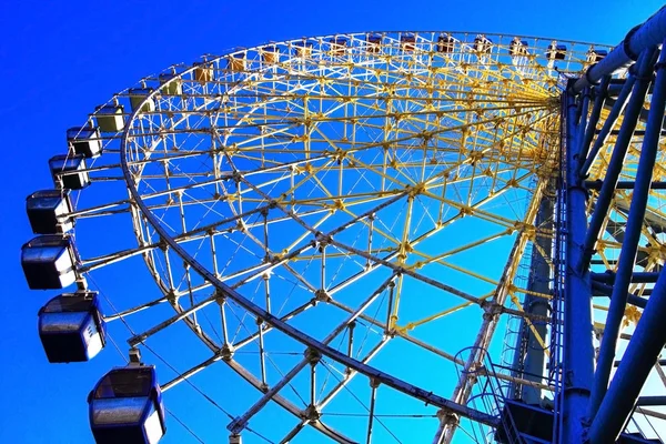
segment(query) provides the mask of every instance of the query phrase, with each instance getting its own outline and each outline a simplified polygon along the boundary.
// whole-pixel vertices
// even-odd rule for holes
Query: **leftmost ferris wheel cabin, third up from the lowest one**
[[[21,248],[21,265],[32,290],[57,290],[73,284],[75,262],[77,253],[67,235],[41,235]]]

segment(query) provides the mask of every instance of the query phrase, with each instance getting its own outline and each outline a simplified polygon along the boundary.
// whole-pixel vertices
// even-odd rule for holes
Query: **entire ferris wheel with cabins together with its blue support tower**
[[[129,345],[94,440],[219,440],[182,386],[230,443],[660,442],[665,29],[302,38],[97,107],[21,252],[49,362]]]

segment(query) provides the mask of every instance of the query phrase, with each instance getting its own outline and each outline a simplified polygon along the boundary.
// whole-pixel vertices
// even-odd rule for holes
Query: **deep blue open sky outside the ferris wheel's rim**
[[[0,134],[8,160],[0,194],[6,278],[0,442],[91,440],[85,395],[112,360],[47,363],[36,323],[52,293],[28,290],[19,250],[32,236],[24,198],[51,186],[47,160],[64,149],[64,130],[82,123],[113,92],[205,52],[345,31],[471,30],[615,44],[660,6],[658,0],[0,0]],[[165,443],[178,442],[169,436]]]

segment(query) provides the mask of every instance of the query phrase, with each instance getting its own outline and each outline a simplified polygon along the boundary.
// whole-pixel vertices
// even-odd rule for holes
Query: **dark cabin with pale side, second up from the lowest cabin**
[[[49,362],[83,362],[105,345],[105,324],[95,293],[61,294],[39,311],[39,337]]]

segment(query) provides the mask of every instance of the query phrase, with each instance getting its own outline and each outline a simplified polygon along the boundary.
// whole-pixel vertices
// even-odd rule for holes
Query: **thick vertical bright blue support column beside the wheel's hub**
[[[564,297],[564,360],[561,442],[579,443],[583,435],[592,379],[594,346],[592,326],[592,289],[587,270],[578,271],[573,264],[581,261],[585,239],[587,192],[578,175],[578,155],[582,132],[576,122],[576,102],[571,92],[564,97],[566,168],[566,279]]]

